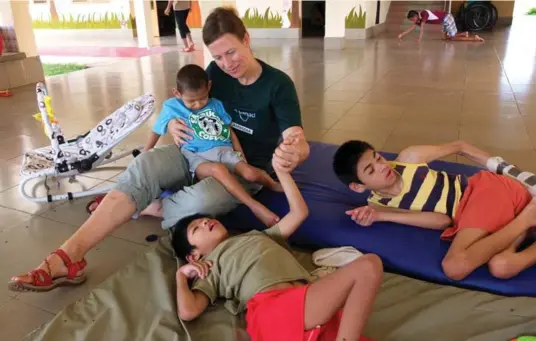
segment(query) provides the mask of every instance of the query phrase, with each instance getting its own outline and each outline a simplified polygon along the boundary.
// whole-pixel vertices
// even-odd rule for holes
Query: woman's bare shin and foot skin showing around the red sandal
[[[135,211],[136,205],[128,195],[117,190],[109,192],[89,219],[60,246],[60,249],[65,251],[73,262],[82,260],[89,250],[129,221]],[[57,255],[49,255],[46,259],[50,264],[53,278],[67,275],[67,268]],[[45,262],[38,268],[47,271]],[[13,277],[12,281],[32,283],[32,277],[25,274]]]

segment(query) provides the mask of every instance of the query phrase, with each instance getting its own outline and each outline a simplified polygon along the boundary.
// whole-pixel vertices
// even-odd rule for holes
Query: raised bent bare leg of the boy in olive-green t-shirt
[[[337,340],[357,341],[367,323],[382,276],[380,258],[368,254],[311,284],[305,295],[305,330],[325,324],[342,308]]]

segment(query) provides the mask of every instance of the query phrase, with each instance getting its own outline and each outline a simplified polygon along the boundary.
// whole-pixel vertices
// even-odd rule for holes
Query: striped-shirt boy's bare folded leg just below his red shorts
[[[463,229],[456,234],[443,259],[445,274],[453,280],[462,280],[481,265],[510,247],[521,235],[536,225],[536,199],[505,227],[488,234],[477,228]]]

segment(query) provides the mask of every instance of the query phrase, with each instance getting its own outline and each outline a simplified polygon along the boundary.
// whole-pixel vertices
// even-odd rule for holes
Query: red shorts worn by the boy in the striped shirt
[[[443,231],[441,238],[452,239],[464,228],[496,232],[514,220],[531,200],[529,191],[519,181],[481,171],[469,178],[454,217],[454,226]]]

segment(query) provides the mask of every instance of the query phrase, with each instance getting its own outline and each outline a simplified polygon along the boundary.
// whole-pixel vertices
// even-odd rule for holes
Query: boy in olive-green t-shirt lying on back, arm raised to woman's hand
[[[233,237],[201,215],[175,226],[173,248],[188,261],[176,275],[179,317],[193,320],[222,297],[231,313],[247,310],[252,341],[366,340],[361,333],[381,283],[381,260],[364,255],[312,283],[286,243],[308,216],[307,205],[291,175],[273,167],[290,206],[278,224]]]

